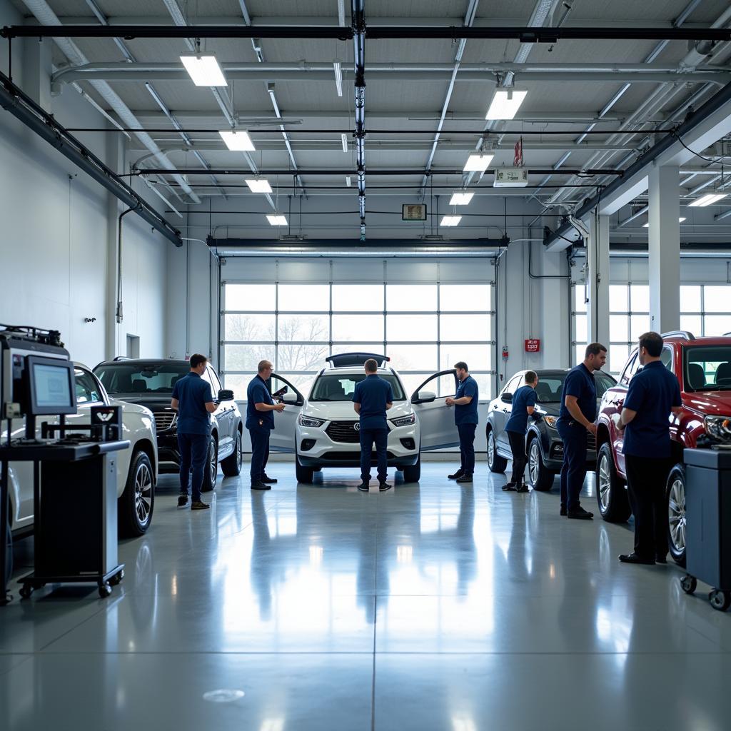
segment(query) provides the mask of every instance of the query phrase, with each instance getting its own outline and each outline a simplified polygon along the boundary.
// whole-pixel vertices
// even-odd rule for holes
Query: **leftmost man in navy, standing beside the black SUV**
[[[216,403],[211,385],[201,376],[208,358],[200,353],[190,357],[190,373],[173,386],[170,408],[178,412],[178,451],[181,453],[181,493],[178,507],[188,507],[188,483],[191,488],[191,510],[207,510],[210,505],[200,499],[203,472],[211,439],[211,417]],[[192,470],[192,475],[191,475]]]

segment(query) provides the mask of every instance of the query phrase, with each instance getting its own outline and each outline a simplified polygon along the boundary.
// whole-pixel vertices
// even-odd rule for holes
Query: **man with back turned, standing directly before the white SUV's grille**
[[[393,406],[393,390],[387,380],[378,375],[378,363],[368,358],[364,364],[366,377],[355,385],[353,408],[360,415],[360,485],[358,490],[367,493],[371,480],[371,450],[376,443],[378,457],[378,484],[381,492],[390,489],[386,482],[388,471],[388,422],[386,412]]]

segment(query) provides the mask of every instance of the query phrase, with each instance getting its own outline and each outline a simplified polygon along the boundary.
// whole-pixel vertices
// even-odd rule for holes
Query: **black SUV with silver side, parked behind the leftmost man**
[[[99,363],[94,374],[102,382],[107,393],[120,401],[147,406],[155,416],[157,450],[161,472],[180,470],[178,414],[170,408],[173,386],[188,374],[187,360],[139,359],[117,357]],[[211,414],[211,444],[208,447],[208,469],[203,478],[202,490],[211,491],[216,486],[219,462],[224,475],[235,477],[241,471],[241,441],[243,423],[233,391],[221,389],[216,371],[209,365],[202,379],[211,385],[218,408]]]

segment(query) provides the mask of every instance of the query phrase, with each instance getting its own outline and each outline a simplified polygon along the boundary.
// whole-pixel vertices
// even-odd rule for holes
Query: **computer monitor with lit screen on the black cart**
[[[74,364],[39,355],[26,357],[29,416],[76,413]]]

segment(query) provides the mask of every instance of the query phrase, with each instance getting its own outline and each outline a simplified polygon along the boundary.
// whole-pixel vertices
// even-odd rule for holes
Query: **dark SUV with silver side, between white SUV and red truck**
[[[519,371],[512,376],[500,395],[488,406],[485,436],[488,439],[488,465],[493,472],[504,472],[508,459],[512,457],[505,425],[512,412],[513,394],[526,385],[526,372]],[[553,478],[564,463],[564,442],[556,429],[556,421],[561,409],[561,390],[569,371],[556,369],[535,372],[538,374],[538,385],[534,414],[539,416],[528,420],[528,482],[534,490],[545,491],[553,486]],[[602,371],[594,371],[594,382],[597,404],[602,401],[605,391],[617,383],[612,376]],[[596,439],[591,434],[588,435],[586,446],[586,464],[593,469],[596,464]]]

